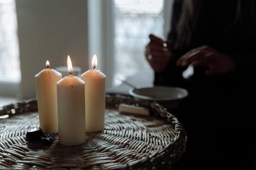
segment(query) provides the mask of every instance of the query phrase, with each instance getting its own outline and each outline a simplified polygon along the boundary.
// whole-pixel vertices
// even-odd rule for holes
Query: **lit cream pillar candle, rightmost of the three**
[[[84,72],[81,79],[86,82],[86,131],[98,132],[104,130],[105,116],[105,78],[96,70],[97,56],[92,59],[93,69]]]

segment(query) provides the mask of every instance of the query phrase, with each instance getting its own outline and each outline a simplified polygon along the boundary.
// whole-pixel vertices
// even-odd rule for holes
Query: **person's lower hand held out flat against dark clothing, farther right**
[[[199,46],[184,54],[177,62],[177,66],[205,67],[206,75],[223,75],[236,69],[236,64],[228,55],[222,54],[209,46]]]

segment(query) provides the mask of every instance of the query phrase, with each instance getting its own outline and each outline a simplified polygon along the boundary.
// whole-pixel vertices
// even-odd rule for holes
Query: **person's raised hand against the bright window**
[[[162,72],[168,66],[172,57],[171,43],[164,41],[153,34],[150,34],[150,42],[146,45],[145,56],[151,67],[156,72]]]

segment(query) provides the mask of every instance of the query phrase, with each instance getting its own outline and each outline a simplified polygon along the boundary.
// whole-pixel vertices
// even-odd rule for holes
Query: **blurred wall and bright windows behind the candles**
[[[0,104],[36,97],[34,76],[67,65],[91,69],[93,54],[106,90],[138,71],[148,35],[166,38],[173,0],[0,0]]]

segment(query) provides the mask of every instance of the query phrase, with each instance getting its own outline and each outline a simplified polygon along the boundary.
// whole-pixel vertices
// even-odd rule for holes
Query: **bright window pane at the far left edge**
[[[20,81],[15,0],[0,0],[0,81]]]

